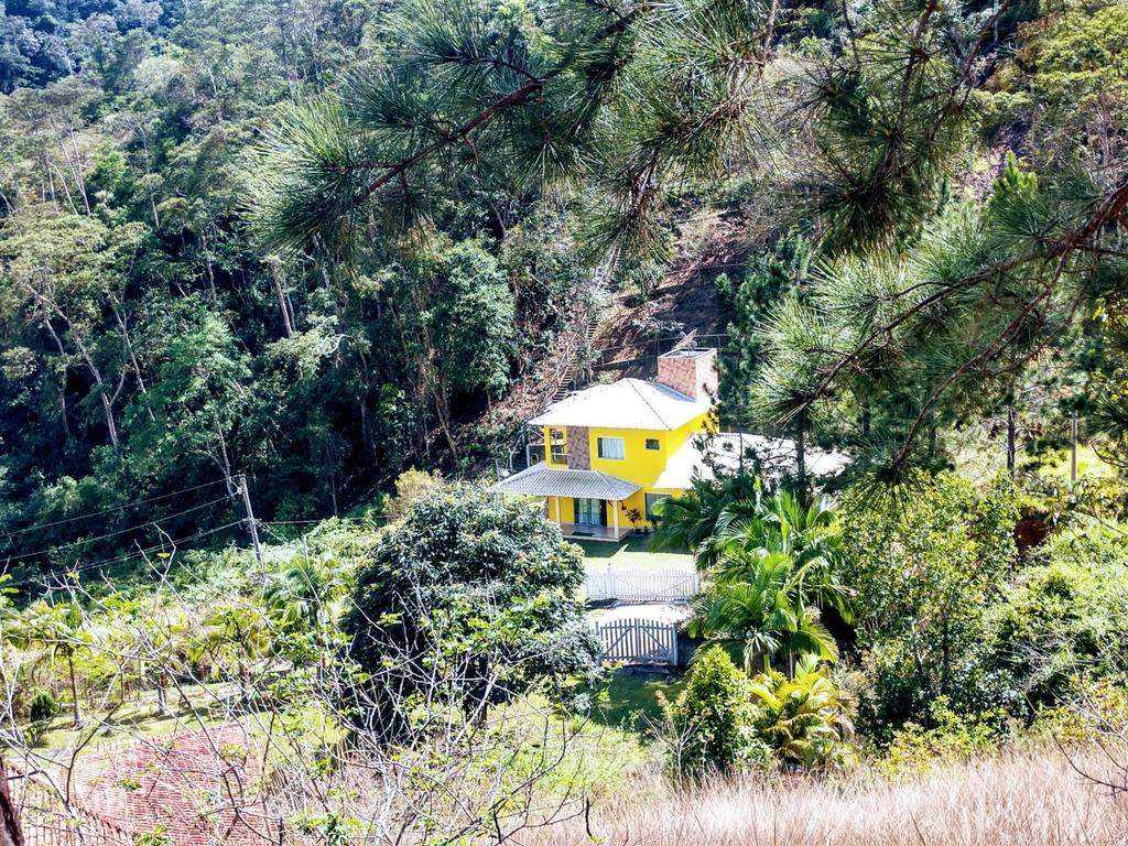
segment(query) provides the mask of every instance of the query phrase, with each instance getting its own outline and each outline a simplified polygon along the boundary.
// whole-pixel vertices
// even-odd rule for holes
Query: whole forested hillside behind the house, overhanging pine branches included
[[[884,469],[1020,407],[1050,441],[1076,409],[1117,429],[1122,265],[1093,239],[1123,206],[1123,7],[837,16],[6,6],[5,557],[228,526],[243,475],[293,521],[504,460],[491,409],[554,335],[717,214],[747,256],[715,280],[723,425]],[[944,289],[898,291],[918,272]]]

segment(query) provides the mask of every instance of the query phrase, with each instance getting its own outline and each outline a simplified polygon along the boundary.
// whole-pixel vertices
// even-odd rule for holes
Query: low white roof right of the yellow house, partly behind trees
[[[712,435],[704,446],[700,443],[702,440],[702,438],[690,438],[681,449],[670,456],[662,474],[654,482],[654,487],[686,490],[693,485],[695,477],[713,478],[714,467],[739,469],[741,456],[749,469],[758,461],[760,473],[768,479],[776,478],[784,472],[795,470],[795,441],[787,438],[732,432]],[[807,473],[811,476],[836,474],[849,461],[841,452],[826,452],[819,449],[808,449],[805,459]]]

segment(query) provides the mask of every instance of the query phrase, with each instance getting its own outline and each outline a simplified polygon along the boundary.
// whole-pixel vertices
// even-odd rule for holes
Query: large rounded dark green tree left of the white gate
[[[433,673],[468,713],[534,686],[593,677],[599,647],[575,598],[579,547],[529,503],[469,485],[432,491],[380,535],[342,619],[349,655],[393,723]]]

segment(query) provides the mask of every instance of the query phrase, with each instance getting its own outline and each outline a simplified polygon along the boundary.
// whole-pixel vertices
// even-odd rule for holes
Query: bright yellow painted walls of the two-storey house
[[[670,456],[681,449],[686,441],[700,432],[706,424],[708,414],[702,414],[686,423],[684,426],[667,431],[649,431],[641,429],[615,429],[615,428],[591,428],[588,432],[588,448],[591,453],[591,469],[606,473],[608,476],[634,482],[641,485],[642,490],[635,492],[623,502],[616,503],[619,512],[620,527],[644,527],[646,526],[646,499],[649,493],[678,494],[680,491],[673,488],[654,487],[654,482],[666,468],[666,462]],[[552,450],[548,440],[548,426],[544,428],[545,461],[549,467],[564,468],[564,462],[552,461]],[[600,458],[597,449],[597,438],[622,438],[625,458],[619,461],[609,458]],[[646,439],[656,438],[660,449],[646,449]],[[572,500],[567,496],[548,497],[548,517],[556,519],[554,501],[559,502],[561,522],[570,523],[575,519],[575,510]],[[607,525],[613,526],[611,503],[608,503]],[[628,517],[629,511],[638,512],[638,520]]]

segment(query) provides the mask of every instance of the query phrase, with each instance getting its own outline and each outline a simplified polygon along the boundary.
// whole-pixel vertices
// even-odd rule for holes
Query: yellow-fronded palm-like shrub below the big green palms
[[[813,655],[799,661],[793,678],[769,670],[752,679],[750,690],[757,706],[756,734],[782,763],[847,763],[853,703]]]

